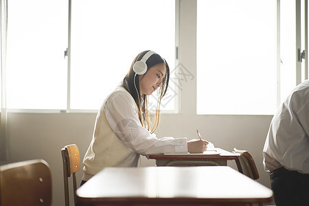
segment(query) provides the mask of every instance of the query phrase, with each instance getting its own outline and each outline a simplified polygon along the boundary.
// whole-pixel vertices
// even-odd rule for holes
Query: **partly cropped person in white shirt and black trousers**
[[[264,169],[271,172],[277,206],[309,205],[309,81],[299,84],[275,113],[266,137]]]

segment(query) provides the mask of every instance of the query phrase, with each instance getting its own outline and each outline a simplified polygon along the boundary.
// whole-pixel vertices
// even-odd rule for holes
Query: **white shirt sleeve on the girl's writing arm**
[[[113,93],[104,106],[108,124],[116,136],[140,155],[186,153],[187,138],[158,139],[141,125],[133,98],[119,91]]]

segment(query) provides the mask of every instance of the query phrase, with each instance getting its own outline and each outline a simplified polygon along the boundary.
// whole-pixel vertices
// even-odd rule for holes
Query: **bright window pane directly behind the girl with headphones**
[[[174,0],[72,1],[71,108],[98,109],[144,50],[172,70],[174,36]],[[174,109],[174,99],[165,99],[161,109]]]

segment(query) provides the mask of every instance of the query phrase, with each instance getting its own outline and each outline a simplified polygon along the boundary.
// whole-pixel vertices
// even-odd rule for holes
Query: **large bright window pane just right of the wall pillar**
[[[197,113],[272,114],[275,0],[197,1]]]

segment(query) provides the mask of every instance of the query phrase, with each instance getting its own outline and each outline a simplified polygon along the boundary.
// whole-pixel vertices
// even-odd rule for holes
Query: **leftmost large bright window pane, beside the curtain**
[[[8,4],[8,108],[66,108],[67,1]]]

